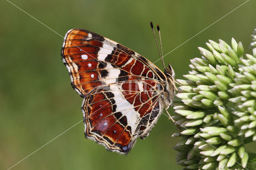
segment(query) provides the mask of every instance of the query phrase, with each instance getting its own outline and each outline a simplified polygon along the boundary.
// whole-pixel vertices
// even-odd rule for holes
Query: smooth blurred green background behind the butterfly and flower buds
[[[106,36],[150,61],[158,51],[150,21],[160,25],[164,54],[176,48],[245,0],[11,0],[61,36],[83,28]],[[244,45],[256,26],[256,2],[222,18],[164,57],[176,78],[188,73],[190,59],[208,39]],[[63,38],[8,1],[0,2],[0,169],[7,169],[82,120],[82,98],[70,86],[60,50]],[[160,61],[155,63],[162,69]],[[173,110],[170,109],[170,113]],[[127,156],[108,152],[84,138],[79,123],[12,169],[182,169],[172,149],[176,127],[162,115],[150,135],[138,139]],[[254,144],[255,145],[255,144]],[[252,146],[252,144],[251,144]],[[250,146],[248,146],[250,147]],[[256,148],[250,147],[250,150]]]

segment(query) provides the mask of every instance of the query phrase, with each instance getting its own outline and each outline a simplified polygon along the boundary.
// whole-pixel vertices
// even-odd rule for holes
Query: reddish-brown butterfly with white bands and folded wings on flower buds
[[[124,45],[83,29],[66,33],[61,55],[72,87],[84,98],[85,137],[107,150],[127,154],[172,104],[174,70],[161,55],[164,72]]]

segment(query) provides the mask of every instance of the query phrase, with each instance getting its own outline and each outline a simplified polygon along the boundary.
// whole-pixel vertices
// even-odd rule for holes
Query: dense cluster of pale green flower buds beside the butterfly
[[[256,30],[254,32],[256,34]],[[175,125],[180,142],[174,146],[177,164],[186,169],[255,169],[256,154],[245,150],[256,140],[256,35],[246,54],[232,38],[198,47],[192,71],[177,79],[181,86],[174,99]]]

